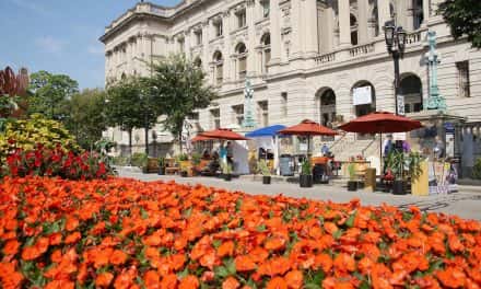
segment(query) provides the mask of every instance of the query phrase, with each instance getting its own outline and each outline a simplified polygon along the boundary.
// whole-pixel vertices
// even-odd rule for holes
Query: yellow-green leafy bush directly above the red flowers
[[[62,124],[33,115],[30,119],[11,119],[7,123],[5,130],[0,134],[0,158],[4,159],[16,149],[34,150],[37,144],[46,149],[60,146],[64,151],[80,152],[73,136]]]

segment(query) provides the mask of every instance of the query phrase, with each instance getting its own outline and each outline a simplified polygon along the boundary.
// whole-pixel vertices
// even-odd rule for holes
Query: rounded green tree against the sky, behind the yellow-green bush
[[[40,70],[31,74],[28,113],[43,114],[47,118],[62,119],[61,104],[79,92],[79,83],[66,74],[52,74]]]

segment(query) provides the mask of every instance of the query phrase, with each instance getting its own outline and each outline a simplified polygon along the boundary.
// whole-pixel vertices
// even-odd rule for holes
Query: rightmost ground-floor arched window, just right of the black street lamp
[[[421,79],[415,74],[401,78],[399,94],[404,96],[404,112],[418,113],[423,109],[423,94]]]

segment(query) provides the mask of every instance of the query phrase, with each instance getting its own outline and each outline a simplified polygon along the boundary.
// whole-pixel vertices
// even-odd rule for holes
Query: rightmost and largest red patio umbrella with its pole
[[[423,127],[419,120],[409,117],[395,115],[387,112],[375,112],[368,115],[360,116],[339,128],[350,132],[361,134],[387,134],[387,132],[407,132]],[[383,137],[380,141],[380,160],[383,160]]]

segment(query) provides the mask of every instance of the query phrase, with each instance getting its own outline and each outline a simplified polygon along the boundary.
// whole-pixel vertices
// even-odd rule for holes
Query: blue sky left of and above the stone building
[[[0,0],[0,68],[47,70],[104,86],[104,47],[98,37],[136,0]],[[178,0],[153,0],[173,5]]]

